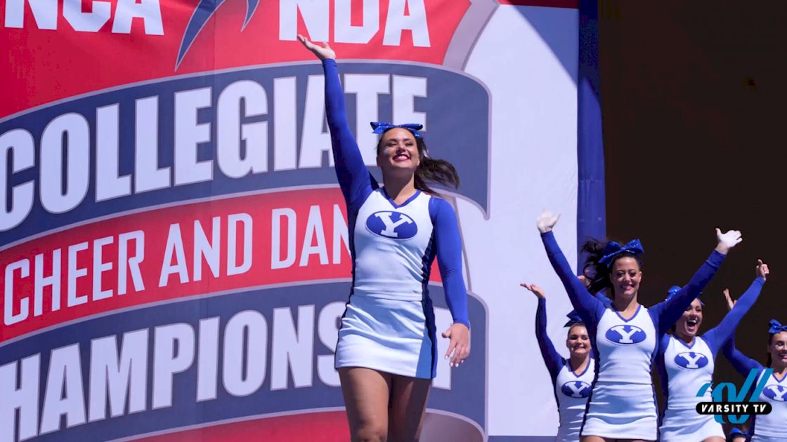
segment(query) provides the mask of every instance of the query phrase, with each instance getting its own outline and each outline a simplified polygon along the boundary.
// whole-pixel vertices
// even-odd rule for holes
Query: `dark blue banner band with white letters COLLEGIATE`
[[[341,63],[339,70],[350,125],[359,140],[371,139],[360,145],[368,162],[377,139],[367,136],[369,120],[417,117],[426,123],[430,155],[459,172],[460,196],[486,211],[490,98],[481,83],[412,64]],[[188,76],[0,123],[0,152],[8,153],[0,157],[0,200],[8,208],[0,211],[0,247],[155,204],[334,185],[321,77],[320,64]],[[359,102],[376,106],[360,109]]]

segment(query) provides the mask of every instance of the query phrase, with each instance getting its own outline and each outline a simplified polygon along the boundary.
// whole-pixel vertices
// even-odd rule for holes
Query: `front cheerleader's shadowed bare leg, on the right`
[[[418,440],[431,384],[431,379],[392,376],[388,433],[391,442]]]

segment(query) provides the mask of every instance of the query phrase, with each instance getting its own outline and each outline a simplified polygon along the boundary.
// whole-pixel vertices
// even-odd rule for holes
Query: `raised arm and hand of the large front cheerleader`
[[[298,35],[298,40],[311,50],[317,58],[323,61],[325,72],[325,113],[328,128],[331,130],[331,147],[334,152],[334,168],[342,188],[347,205],[360,208],[372,190],[371,175],[360,155],[358,143],[349,130],[347,112],[345,110],[344,91],[339,83],[339,74],[336,68],[336,53],[323,43],[318,46],[303,35]]]

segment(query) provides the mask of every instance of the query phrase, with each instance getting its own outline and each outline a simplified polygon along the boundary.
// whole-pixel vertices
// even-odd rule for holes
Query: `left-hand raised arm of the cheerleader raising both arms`
[[[555,269],[560,281],[563,282],[563,287],[566,288],[568,298],[571,300],[571,305],[586,324],[597,324],[601,315],[604,314],[604,304],[594,297],[588,291],[585,284],[580,281],[576,275],[571,271],[566,256],[557,245],[555,235],[552,234],[552,227],[555,227],[560,215],[553,215],[552,212],[545,210],[538,215],[536,227],[541,232],[541,241],[544,242],[544,249],[549,257],[549,262],[552,263],[552,268]]]

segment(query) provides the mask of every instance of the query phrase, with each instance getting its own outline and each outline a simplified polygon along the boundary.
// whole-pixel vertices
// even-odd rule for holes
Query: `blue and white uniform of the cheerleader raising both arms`
[[[593,343],[597,375],[590,393],[582,436],[656,440],[656,395],[651,370],[656,344],[700,295],[724,255],[712,252],[700,270],[669,300],[640,305],[630,318],[593,297],[571,271],[552,232],[541,234],[552,267]]]

